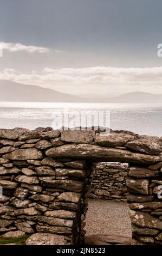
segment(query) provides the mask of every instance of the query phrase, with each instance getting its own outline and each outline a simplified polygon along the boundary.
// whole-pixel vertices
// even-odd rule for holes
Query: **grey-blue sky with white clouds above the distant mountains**
[[[162,93],[161,0],[0,3],[0,79],[92,97]]]

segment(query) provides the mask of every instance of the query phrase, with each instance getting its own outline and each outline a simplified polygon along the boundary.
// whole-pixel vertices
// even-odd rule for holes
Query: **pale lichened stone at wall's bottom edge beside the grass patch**
[[[27,239],[26,245],[69,245],[69,243],[63,235],[35,233]]]

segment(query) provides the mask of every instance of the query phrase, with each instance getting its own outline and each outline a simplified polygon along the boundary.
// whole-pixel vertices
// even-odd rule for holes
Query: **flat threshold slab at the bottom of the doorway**
[[[132,237],[129,235],[89,235],[85,237],[86,245],[131,245]]]

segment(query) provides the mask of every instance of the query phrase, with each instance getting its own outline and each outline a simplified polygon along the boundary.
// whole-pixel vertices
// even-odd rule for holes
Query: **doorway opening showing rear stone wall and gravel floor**
[[[131,244],[132,231],[127,204],[128,164],[93,163],[90,179],[85,242],[93,245]]]

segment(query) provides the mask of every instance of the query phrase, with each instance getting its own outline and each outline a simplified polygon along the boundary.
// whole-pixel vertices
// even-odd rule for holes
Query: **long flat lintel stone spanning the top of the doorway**
[[[103,148],[89,144],[65,144],[57,148],[46,150],[46,155],[54,158],[71,157],[74,159],[88,159],[93,162],[115,161],[132,163],[155,163],[162,160],[162,156],[151,156],[131,151]]]

